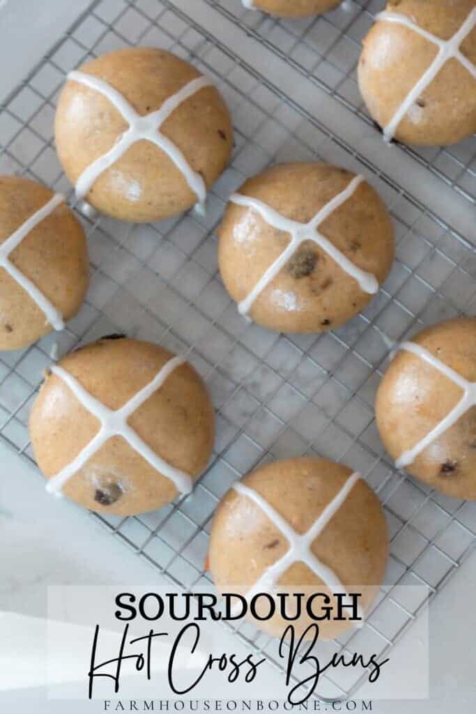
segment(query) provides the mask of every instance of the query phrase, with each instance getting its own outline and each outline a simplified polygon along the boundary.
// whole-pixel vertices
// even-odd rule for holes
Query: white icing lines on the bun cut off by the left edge
[[[39,211],[36,211],[33,216],[30,216],[30,218],[17,228],[0,246],[0,267],[5,268],[6,272],[28,293],[34,303],[40,308],[41,312],[44,313],[46,321],[54,327],[55,330],[64,329],[63,315],[46,295],[11,262],[10,254],[20,245],[21,241],[23,241],[41,221],[44,221],[45,218],[50,216],[55,208],[57,208],[60,203],[63,203],[64,200],[65,198],[61,193],[55,193],[51,201],[46,203]]]

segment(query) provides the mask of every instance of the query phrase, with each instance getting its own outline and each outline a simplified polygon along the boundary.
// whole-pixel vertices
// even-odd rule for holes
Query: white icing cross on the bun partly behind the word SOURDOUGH
[[[270,565],[263,575],[258,578],[256,583],[248,590],[245,598],[246,600],[251,600],[254,595],[263,592],[273,593],[276,586],[278,585],[278,580],[283,577],[284,573],[288,568],[290,568],[293,563],[304,563],[308,566],[310,570],[315,573],[323,583],[332,590],[333,593],[338,593],[348,598],[348,592],[345,590],[344,585],[340,582],[334,571],[322,563],[312,552],[311,548],[315,540],[319,537],[320,533],[323,532],[325,526],[332,520],[335,514],[338,512],[340,506],[343,505],[345,499],[348,497],[350,491],[352,491],[355,483],[362,478],[360,473],[353,473],[352,476],[345,481],[345,484],[340,489],[340,491],[334,496],[332,501],[325,506],[323,512],[314,521],[313,525],[310,527],[307,533],[300,535],[289,525],[288,521],[285,521],[283,516],[278,513],[278,511],[271,506],[268,501],[260,496],[257,491],[253,488],[248,488],[243,483],[233,483],[233,490],[239,493],[240,496],[244,498],[249,498],[251,501],[256,503],[257,506],[263,511],[265,516],[273,523],[273,526],[278,528],[278,531],[284,535],[289,543],[288,551],[283,555],[282,558],[276,560],[273,565]],[[363,612],[359,608],[359,617],[363,618]]]

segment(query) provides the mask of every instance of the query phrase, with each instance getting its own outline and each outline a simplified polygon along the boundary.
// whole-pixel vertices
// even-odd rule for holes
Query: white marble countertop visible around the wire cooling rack
[[[185,1],[185,0],[184,0]],[[0,1],[0,59],[9,73],[0,74],[4,96],[42,51],[69,25],[86,0]],[[49,12],[46,12],[46,7]],[[25,17],[28,24],[25,25]],[[29,52],[24,51],[25,46]],[[0,604],[24,615],[44,614],[41,588],[51,584],[115,584],[154,582],[158,576],[139,558],[111,538],[93,519],[66,501],[46,495],[34,469],[0,445]],[[452,578],[430,608],[430,700],[376,701],[381,714],[402,712],[447,713],[470,710],[476,704],[476,553]],[[397,666],[403,650],[393,650]],[[1,676],[1,673],[0,673]],[[370,695],[367,693],[366,695]],[[61,703],[46,702],[44,690],[0,693],[0,704],[13,700],[15,714],[34,708],[36,714],[64,712]],[[6,708],[2,708],[6,711]],[[71,714],[86,711],[68,705]],[[96,708],[95,710],[98,710]]]

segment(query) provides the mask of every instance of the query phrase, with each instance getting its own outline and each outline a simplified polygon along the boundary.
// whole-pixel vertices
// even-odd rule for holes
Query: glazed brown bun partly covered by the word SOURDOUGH
[[[277,572],[275,564],[288,553],[290,544],[276,521],[265,512],[270,506],[295,533],[304,535],[315,527],[332,502],[333,513],[324,527],[319,527],[318,535],[311,537],[310,550],[320,565],[332,571],[347,593],[362,593],[360,608],[364,615],[368,612],[385,575],[388,531],[380,502],[362,478],[325,458],[291,458],[258,468],[238,483],[238,489],[241,490],[232,487],[223,498],[211,528],[208,563],[222,594],[240,593],[248,595],[249,600],[251,588],[260,593],[304,592],[306,599],[313,593],[325,593],[335,607],[332,593],[336,588],[329,590],[315,570],[298,556],[291,559],[288,567],[285,563],[282,573],[279,568]],[[264,500],[264,508],[263,501],[255,501],[256,494]],[[340,505],[335,506],[336,503]],[[261,581],[263,575],[268,576],[268,585]],[[313,611],[320,613],[317,603]],[[302,633],[310,621],[301,615],[293,624]],[[276,613],[258,627],[280,636],[288,624]],[[319,623],[320,637],[333,638],[351,624],[347,618],[323,620]]]

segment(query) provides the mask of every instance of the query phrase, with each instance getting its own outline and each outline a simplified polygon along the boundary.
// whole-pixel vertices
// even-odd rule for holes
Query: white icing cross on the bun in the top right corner
[[[432,61],[432,64],[430,64],[427,71],[425,71],[425,74],[420,77],[420,79],[417,81],[417,84],[415,84],[413,89],[407,94],[405,99],[402,101],[402,104],[400,104],[397,111],[395,111],[393,118],[383,129],[383,136],[385,141],[392,141],[393,137],[395,136],[395,132],[398,129],[400,121],[402,121],[403,117],[407,114],[407,111],[410,109],[410,107],[415,104],[415,101],[417,101],[418,97],[421,96],[421,94],[425,91],[425,89],[427,89],[428,86],[430,86],[432,81],[435,79],[437,74],[440,72],[440,70],[447,63],[448,60],[457,59],[458,61],[460,61],[460,63],[465,67],[465,69],[467,69],[467,71],[469,71],[470,74],[472,74],[472,76],[476,79],[476,65],[473,64],[469,59],[467,59],[467,57],[465,57],[460,50],[462,42],[465,41],[467,36],[476,26],[476,8],[470,12],[460,29],[449,40],[442,40],[440,37],[437,37],[436,35],[427,32],[426,30],[422,29],[422,27],[418,26],[415,22],[410,20],[410,18],[397,12],[380,12],[378,13],[378,15],[375,16],[375,20],[395,22],[400,25],[405,25],[405,27],[417,32],[422,37],[424,37],[429,42],[432,42],[432,44],[435,44],[438,47],[438,54]]]

